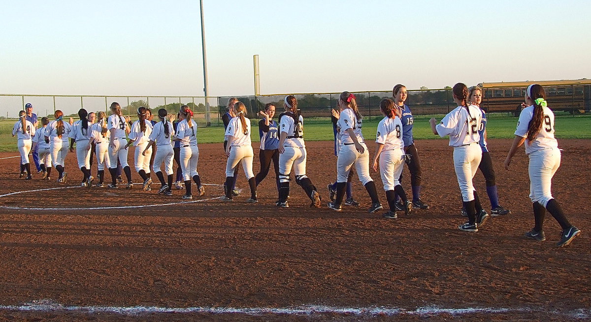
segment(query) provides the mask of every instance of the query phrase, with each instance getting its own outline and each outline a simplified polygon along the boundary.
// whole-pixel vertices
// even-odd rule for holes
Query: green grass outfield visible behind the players
[[[415,139],[437,139],[439,136],[431,133],[428,120],[431,117],[438,121],[443,115],[418,115],[414,118],[413,135]],[[381,118],[365,118],[363,121],[363,136],[373,140],[376,128]],[[17,138],[12,137],[12,126],[16,120],[0,121],[0,151],[17,151]],[[252,141],[259,141],[258,122],[252,120]],[[517,126],[517,118],[506,114],[488,115],[486,131],[489,138],[512,138]],[[591,139],[591,115],[556,115],[556,137]],[[313,118],[304,121],[304,138],[308,141],[332,141],[333,130],[329,118]],[[200,143],[223,142],[223,126],[200,128],[198,132]]]

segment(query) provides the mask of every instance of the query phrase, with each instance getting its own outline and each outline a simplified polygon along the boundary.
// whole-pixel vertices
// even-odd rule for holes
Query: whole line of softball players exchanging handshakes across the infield
[[[379,122],[376,135],[376,151],[372,161],[372,168],[379,172],[384,184],[389,210],[384,217],[397,218],[396,211],[403,210],[405,214],[413,212],[413,207],[428,208],[419,198],[420,191],[420,163],[418,152],[412,139],[413,118],[404,104],[407,97],[406,87],[398,84],[392,91],[394,100],[384,99],[380,102],[380,110],[384,119]],[[509,213],[509,210],[499,206],[494,183],[492,163],[486,148],[486,118],[485,113],[478,107],[482,100],[482,91],[478,87],[471,87],[470,91],[465,84],[457,83],[453,87],[453,98],[457,108],[448,113],[439,124],[433,118],[430,120],[431,129],[435,135],[449,136],[449,145],[454,148],[453,160],[457,181],[462,191],[462,214],[468,217],[467,221],[458,228],[467,232],[477,232],[485,225],[489,214],[483,210],[478,194],[472,185],[472,178],[480,167],[487,181],[487,193],[491,199],[493,216]],[[232,201],[236,196],[234,190],[238,165],[242,165],[249,183],[251,196],[246,199],[248,203],[258,203],[256,187],[268,173],[271,161],[275,165],[277,174],[278,200],[276,205],[288,207],[287,199],[290,195],[290,174],[294,171],[296,183],[303,188],[304,193],[310,198],[310,207],[320,207],[320,194],[311,179],[306,175],[307,151],[304,143],[303,117],[299,114],[296,97],[290,95],[284,99],[285,112],[281,113],[278,123],[273,121],[275,106],[267,104],[261,111],[264,116],[259,122],[259,134],[261,135],[261,171],[254,175],[252,161],[254,151],[251,143],[251,122],[246,118],[246,107],[242,102],[232,98],[228,103],[228,112],[225,117],[227,122],[225,131],[225,153],[228,157],[226,163],[226,180],[224,183],[224,201]],[[35,135],[35,126],[25,119],[25,112],[21,111],[21,120],[15,124],[13,135],[18,135],[18,148],[21,152],[21,176],[27,171],[30,178],[30,165],[28,152],[31,145],[39,145],[39,156],[45,165],[44,177],[48,177],[50,167],[53,165],[59,173],[59,182],[66,181],[64,160],[68,151],[67,139],[71,138],[70,151],[73,143],[76,143],[76,155],[78,165],[83,173],[83,186],[91,186],[93,177],[90,175],[90,147],[96,146],[96,156],[99,168],[99,186],[104,179],[104,168],[108,167],[111,173],[112,183],[107,187],[117,188],[117,168],[121,165],[128,179],[128,188],[132,187],[131,170],[127,164],[127,151],[131,144],[135,148],[135,170],[144,180],[143,189],[150,190],[152,183],[150,177],[150,157],[152,147],[156,146],[154,165],[152,170],[161,183],[158,191],[160,194],[172,194],[173,186],[173,158],[175,151],[173,141],[178,142],[177,162],[180,163],[184,187],[186,193],[183,199],[192,199],[191,180],[196,183],[199,195],[204,194],[197,162],[199,149],[197,148],[197,125],[191,121],[193,112],[188,106],[182,106],[178,113],[176,128],[173,126],[174,117],[169,117],[165,109],[158,111],[160,122],[148,121],[148,110],[138,109],[138,121],[129,126],[128,121],[121,115],[121,107],[118,103],[111,105],[112,115],[105,118],[104,112],[98,114],[98,123],[89,124],[86,110],[79,112],[80,121],[70,125],[63,121],[63,114],[57,110],[56,120],[42,121],[43,128]],[[369,213],[382,209],[374,181],[369,175],[369,151],[361,132],[362,116],[359,113],[356,97],[352,93],[341,93],[338,100],[338,109],[333,111],[336,119],[336,155],[337,155],[337,180],[329,185],[331,201],[327,204],[330,209],[340,212],[345,197],[347,183],[350,182],[352,167],[355,166],[359,180],[366,188],[372,204]],[[225,122],[226,125],[226,122]],[[126,141],[126,134],[128,141]],[[570,224],[569,220],[560,209],[557,201],[551,196],[551,178],[560,165],[560,149],[554,138],[554,115],[547,108],[543,87],[532,84],[525,95],[524,110],[521,112],[515,141],[505,160],[505,168],[509,168],[512,156],[517,148],[524,144],[530,158],[530,198],[534,209],[535,227],[525,234],[525,237],[534,240],[545,240],[543,232],[543,220],[545,210],[561,225],[560,242],[557,246],[566,246],[580,235],[580,230]],[[65,143],[65,144],[64,144]],[[106,147],[108,145],[108,147]],[[410,152],[410,153],[409,153]],[[485,161],[485,162],[482,162]],[[400,184],[402,168],[409,164],[411,171],[411,185],[413,186],[413,200],[408,200],[404,188]],[[164,178],[161,164],[164,164]],[[548,164],[550,167],[548,168]],[[414,181],[414,182],[413,182]],[[349,189],[347,189],[349,190]],[[349,203],[358,205],[352,196]],[[398,201],[397,201],[398,200]]]

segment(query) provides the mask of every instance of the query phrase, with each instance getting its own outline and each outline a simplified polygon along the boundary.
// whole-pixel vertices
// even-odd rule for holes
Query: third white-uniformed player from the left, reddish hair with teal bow
[[[57,182],[66,183],[67,173],[64,171],[64,163],[66,155],[68,154],[68,135],[72,126],[70,123],[63,121],[64,113],[61,110],[56,110],[54,113],[55,121],[51,121],[47,125],[45,132],[45,141],[51,142],[51,162],[56,168],[59,177]],[[64,142],[65,140],[65,142]]]

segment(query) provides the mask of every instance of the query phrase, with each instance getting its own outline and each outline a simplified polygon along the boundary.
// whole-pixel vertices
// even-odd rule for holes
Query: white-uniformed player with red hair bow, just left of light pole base
[[[178,123],[177,133],[174,140],[181,141],[180,160],[185,183],[185,194],[183,199],[193,199],[191,194],[191,178],[197,184],[199,196],[205,194],[205,188],[201,185],[201,178],[197,172],[199,163],[199,148],[197,148],[197,123],[191,121],[193,111],[189,106],[183,105],[180,110],[183,121]]]

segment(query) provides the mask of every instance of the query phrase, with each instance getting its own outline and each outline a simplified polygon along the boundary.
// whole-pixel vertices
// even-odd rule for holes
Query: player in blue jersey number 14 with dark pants
[[[271,161],[275,168],[275,183],[279,191],[279,137],[277,136],[277,122],[273,121],[275,115],[275,105],[267,103],[265,110],[259,112],[263,119],[259,121],[259,137],[261,138],[261,149],[259,158],[261,160],[261,171],[256,174],[256,186],[267,177]]]

